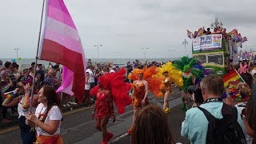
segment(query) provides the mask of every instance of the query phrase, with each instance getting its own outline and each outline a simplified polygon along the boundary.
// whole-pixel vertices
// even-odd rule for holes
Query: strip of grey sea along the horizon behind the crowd
[[[19,70],[23,70],[25,68],[30,68],[31,63],[35,62],[34,58],[21,58],[19,60],[16,60],[14,58],[0,58],[2,60],[2,64],[4,65],[5,62],[9,61],[9,62],[17,62],[18,65],[20,66]],[[118,65],[118,66],[126,66],[127,62],[134,62],[135,60],[138,60],[140,62],[145,62],[144,58],[86,58],[86,61],[88,61],[88,59],[91,59],[91,62],[93,63],[112,63],[114,65]],[[169,62],[170,60],[175,60],[178,58],[146,58],[147,62]],[[55,62],[50,62],[53,66],[55,65]],[[38,60],[38,64],[42,64],[45,67],[49,66],[49,61],[42,61],[42,60]]]

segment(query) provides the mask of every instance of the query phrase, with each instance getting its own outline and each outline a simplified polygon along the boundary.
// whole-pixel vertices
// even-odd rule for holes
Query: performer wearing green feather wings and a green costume
[[[181,60],[174,61],[174,66],[178,70],[182,70],[183,86],[182,86],[182,110],[188,110],[187,101],[190,98],[188,93],[189,86],[193,85],[194,78],[200,78],[200,75],[203,73],[203,70],[198,68],[193,68],[196,64],[196,58],[182,57]]]

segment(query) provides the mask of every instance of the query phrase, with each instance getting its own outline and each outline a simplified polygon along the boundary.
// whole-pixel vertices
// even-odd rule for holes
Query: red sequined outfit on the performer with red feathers
[[[106,92],[98,92],[97,100],[95,102],[95,107],[97,110],[96,118],[108,118],[110,117],[110,103],[109,98],[106,95]]]

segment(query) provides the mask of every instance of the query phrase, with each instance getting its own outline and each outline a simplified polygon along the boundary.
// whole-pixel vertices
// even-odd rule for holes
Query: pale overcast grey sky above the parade
[[[255,0],[64,0],[86,58],[178,58],[191,53],[186,30],[210,27],[217,17],[256,50]],[[35,58],[42,0],[2,0],[0,58]],[[186,51],[182,42],[189,44]]]

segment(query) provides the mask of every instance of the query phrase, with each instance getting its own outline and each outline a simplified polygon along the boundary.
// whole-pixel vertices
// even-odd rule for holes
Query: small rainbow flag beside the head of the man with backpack
[[[232,70],[230,71],[228,74],[224,75],[222,77],[223,81],[224,81],[224,87],[226,87],[229,82],[231,81],[239,81],[239,82],[244,82],[244,80],[242,79],[242,77],[238,74],[238,72],[236,70]]]

